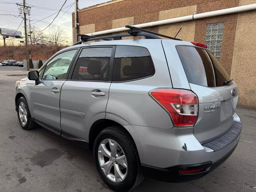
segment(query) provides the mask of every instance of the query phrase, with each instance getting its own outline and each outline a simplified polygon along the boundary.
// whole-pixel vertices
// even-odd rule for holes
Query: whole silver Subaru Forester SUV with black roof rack
[[[20,125],[93,150],[100,176],[116,191],[144,176],[184,182],[212,171],[240,138],[238,87],[206,45],[159,36],[132,27],[82,35],[16,82]]]

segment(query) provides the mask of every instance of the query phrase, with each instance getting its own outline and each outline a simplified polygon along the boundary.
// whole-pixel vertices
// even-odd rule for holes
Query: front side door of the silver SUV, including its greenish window
[[[36,120],[52,126],[60,134],[60,90],[68,77],[77,49],[62,52],[52,58],[41,71],[40,83],[32,84],[30,102]]]

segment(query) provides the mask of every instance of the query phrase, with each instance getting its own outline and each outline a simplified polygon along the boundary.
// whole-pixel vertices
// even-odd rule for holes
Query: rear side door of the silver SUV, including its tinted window
[[[90,126],[104,119],[115,46],[83,48],[61,90],[62,132],[88,141]]]

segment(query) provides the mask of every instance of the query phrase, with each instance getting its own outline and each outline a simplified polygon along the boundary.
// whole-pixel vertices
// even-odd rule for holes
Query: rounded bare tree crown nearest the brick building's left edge
[[[62,28],[56,27],[56,26],[52,26],[50,28],[48,40],[52,44],[61,45],[63,40],[65,40],[65,37],[66,37],[66,32]]]

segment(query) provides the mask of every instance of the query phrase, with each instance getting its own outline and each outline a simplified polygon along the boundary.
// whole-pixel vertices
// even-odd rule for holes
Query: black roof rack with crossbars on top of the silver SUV
[[[122,37],[128,37],[128,36],[144,36],[146,39],[161,39],[160,37],[158,37],[158,36],[161,36],[161,37],[165,37],[165,38],[169,38],[169,39],[173,39],[173,40],[181,40],[178,38],[158,34],[158,33],[144,30],[141,28],[137,28],[134,26],[126,25],[125,27],[130,28],[130,30],[128,31],[128,34],[126,33],[126,34],[108,35],[108,36],[100,36],[100,37],[89,36],[89,35],[85,35],[85,34],[77,34],[78,36],[81,36],[81,41],[78,41],[73,45],[78,45],[78,44],[81,44],[82,42],[88,42],[88,41],[93,41],[93,40],[106,40],[106,41],[121,40]]]

